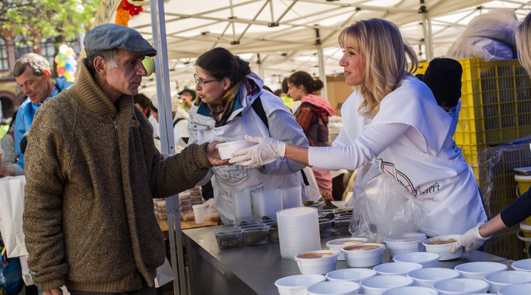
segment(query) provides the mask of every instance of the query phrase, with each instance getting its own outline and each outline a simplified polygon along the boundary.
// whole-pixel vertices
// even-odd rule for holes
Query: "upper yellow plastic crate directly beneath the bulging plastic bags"
[[[520,62],[480,58],[459,62],[462,95],[455,143],[497,145],[531,135],[531,80]],[[427,67],[428,63],[420,63],[417,73]]]

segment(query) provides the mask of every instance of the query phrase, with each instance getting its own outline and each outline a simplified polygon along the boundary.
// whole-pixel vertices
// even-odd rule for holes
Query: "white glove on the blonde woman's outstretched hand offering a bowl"
[[[275,162],[279,157],[285,155],[285,143],[273,138],[253,138],[246,135],[246,140],[256,143],[250,148],[237,150],[231,154],[229,163],[236,163],[249,168],[261,167],[270,162]]]

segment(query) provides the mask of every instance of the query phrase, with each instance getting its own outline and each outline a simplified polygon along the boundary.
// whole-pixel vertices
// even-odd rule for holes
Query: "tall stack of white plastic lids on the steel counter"
[[[277,212],[280,256],[293,258],[296,254],[320,250],[317,209],[295,207]]]

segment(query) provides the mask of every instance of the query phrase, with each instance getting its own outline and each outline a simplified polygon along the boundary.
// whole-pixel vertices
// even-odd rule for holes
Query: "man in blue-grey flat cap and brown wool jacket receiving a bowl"
[[[154,294],[166,255],[153,197],[193,187],[224,165],[216,143],[163,159],[153,128],[133,105],[156,51],[117,24],[84,38],[76,84],[44,104],[26,149],[24,234],[44,295]]]

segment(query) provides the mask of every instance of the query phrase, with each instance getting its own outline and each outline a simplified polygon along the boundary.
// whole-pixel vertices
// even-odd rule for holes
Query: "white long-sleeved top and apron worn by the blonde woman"
[[[428,86],[407,76],[372,119],[358,113],[362,101],[354,92],[343,103],[343,129],[333,147],[310,148],[310,165],[336,170],[372,162],[423,201],[430,214],[420,230],[428,236],[462,234],[486,222],[474,172],[452,140],[457,117],[437,105]],[[396,126],[405,131],[393,134]],[[375,138],[375,131],[382,136]]]

